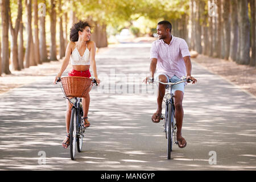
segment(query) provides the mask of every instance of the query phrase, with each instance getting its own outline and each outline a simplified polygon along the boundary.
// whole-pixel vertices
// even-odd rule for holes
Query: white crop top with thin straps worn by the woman
[[[84,55],[81,56],[76,46],[69,60],[71,60],[72,65],[90,65],[90,51],[86,46]]]

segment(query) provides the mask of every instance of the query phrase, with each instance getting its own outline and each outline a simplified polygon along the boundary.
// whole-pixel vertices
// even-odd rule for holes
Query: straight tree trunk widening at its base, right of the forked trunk
[[[27,48],[25,53],[25,60],[26,65],[25,67],[28,68],[30,66],[35,66],[36,62],[34,60],[34,43],[32,37],[32,0],[27,0]]]

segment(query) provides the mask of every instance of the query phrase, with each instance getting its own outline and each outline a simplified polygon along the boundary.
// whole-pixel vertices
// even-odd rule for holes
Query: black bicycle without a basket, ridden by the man
[[[176,140],[176,121],[175,121],[175,106],[174,106],[174,94],[172,94],[172,85],[180,84],[182,82],[191,82],[192,80],[186,80],[185,77],[182,77],[180,81],[172,82],[161,82],[155,80],[155,82],[159,82],[163,85],[168,85],[166,88],[166,94],[164,98],[166,98],[166,113],[164,117],[162,116],[161,119],[164,119],[164,132],[166,133],[167,139],[167,159],[171,159],[171,151],[172,151],[172,138],[174,137],[174,143],[178,144]],[[151,78],[149,82],[154,82]]]

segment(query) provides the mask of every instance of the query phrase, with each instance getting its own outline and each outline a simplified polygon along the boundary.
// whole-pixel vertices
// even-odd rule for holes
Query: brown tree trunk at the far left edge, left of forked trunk
[[[10,0],[1,1],[2,19],[2,72],[11,74],[9,69],[9,8]]]

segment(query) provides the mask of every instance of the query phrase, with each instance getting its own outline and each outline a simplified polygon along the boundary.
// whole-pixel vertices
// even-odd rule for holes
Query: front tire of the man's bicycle
[[[171,159],[172,151],[172,104],[168,104],[168,118],[167,118],[167,159]]]

